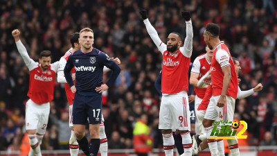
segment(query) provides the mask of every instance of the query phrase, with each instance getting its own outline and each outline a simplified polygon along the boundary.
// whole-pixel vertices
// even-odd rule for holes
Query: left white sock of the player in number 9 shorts
[[[173,148],[175,145],[172,132],[170,134],[163,134],[163,149],[166,153],[166,156],[173,156]]]

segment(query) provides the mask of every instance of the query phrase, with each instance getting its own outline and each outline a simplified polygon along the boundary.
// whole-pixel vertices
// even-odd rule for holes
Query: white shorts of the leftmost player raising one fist
[[[29,99],[26,103],[26,130],[36,130],[36,133],[44,135],[49,113],[50,103],[39,105]]]

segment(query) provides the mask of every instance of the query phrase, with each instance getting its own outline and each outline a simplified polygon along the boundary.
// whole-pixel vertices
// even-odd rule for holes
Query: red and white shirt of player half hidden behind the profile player
[[[197,58],[195,58],[195,61],[193,62],[193,68],[191,69],[191,73],[198,73],[199,77],[197,78],[200,80],[202,76],[205,75],[206,72],[208,72],[211,68],[211,62],[207,58],[207,54],[204,53],[202,55],[199,55]],[[206,88],[199,88],[195,87],[195,94],[199,98],[204,98],[206,92]]]

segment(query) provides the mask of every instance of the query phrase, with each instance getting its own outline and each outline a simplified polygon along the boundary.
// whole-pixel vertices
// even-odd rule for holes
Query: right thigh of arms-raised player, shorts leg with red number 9
[[[190,131],[190,107],[188,96],[177,96],[171,101],[172,129]]]

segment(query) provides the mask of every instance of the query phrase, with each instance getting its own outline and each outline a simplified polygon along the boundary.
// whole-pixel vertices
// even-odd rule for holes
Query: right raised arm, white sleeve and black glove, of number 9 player
[[[186,39],[184,46],[180,48],[181,53],[187,58],[190,58],[191,53],[193,52],[193,24],[190,19],[190,12],[182,11],[182,17],[186,20]]]

